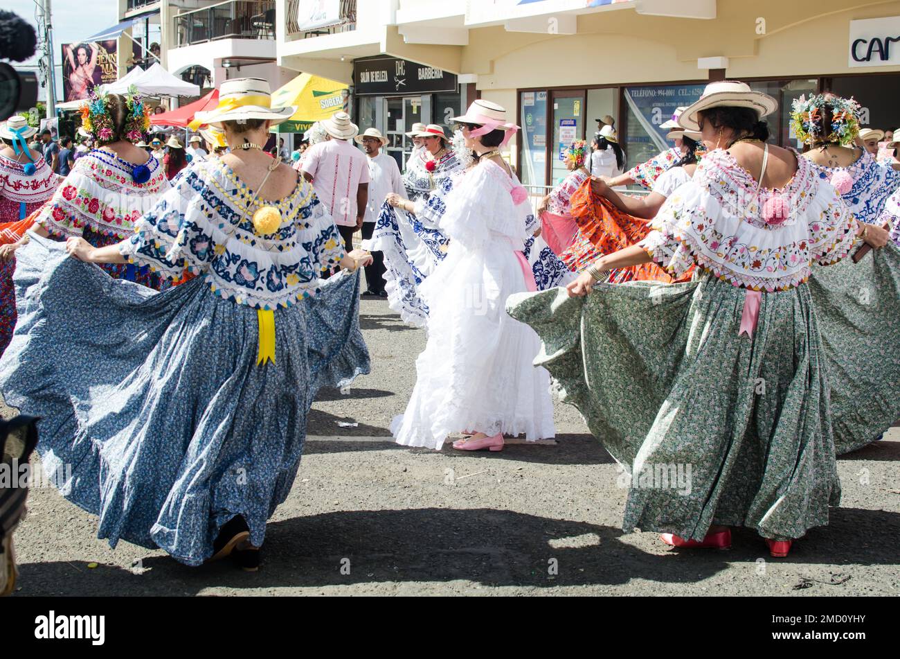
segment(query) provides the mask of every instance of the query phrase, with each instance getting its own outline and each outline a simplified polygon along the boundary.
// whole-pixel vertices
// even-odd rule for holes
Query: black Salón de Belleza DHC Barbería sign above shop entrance
[[[356,59],[353,63],[356,95],[415,95],[455,92],[456,76],[447,71],[416,64],[408,59]]]

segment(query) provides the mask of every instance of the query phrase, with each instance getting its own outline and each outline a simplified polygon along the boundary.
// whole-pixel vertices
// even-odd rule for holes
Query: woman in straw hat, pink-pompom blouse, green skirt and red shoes
[[[674,546],[727,548],[729,527],[745,526],[788,555],[840,502],[806,278],[846,257],[862,229],[809,161],[765,144],[761,118],[777,107],[743,83],[707,86],[680,122],[716,150],[653,232],[565,292],[508,302],[543,339],[536,363],[563,401],[630,469],[623,528]],[[887,232],[872,229],[867,242],[883,246]],[[698,273],[685,284],[598,283],[651,259],[673,276]]]

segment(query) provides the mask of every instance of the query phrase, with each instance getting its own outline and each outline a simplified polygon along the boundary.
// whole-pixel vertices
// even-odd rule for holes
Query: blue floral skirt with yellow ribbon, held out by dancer
[[[257,366],[257,310],[204,277],[157,293],[40,238],[17,260],[20,321],[0,388],[41,417],[45,468],[72,465],[61,493],[99,516],[98,537],[197,565],[241,515],[260,546],[297,473],[316,392],[369,372],[358,274],[276,309],[275,362]]]

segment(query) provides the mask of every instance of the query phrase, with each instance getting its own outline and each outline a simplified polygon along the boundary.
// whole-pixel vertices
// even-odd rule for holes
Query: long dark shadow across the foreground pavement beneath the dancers
[[[896,564],[900,514],[835,509],[791,555],[770,559],[760,537],[740,529],[734,549],[648,554],[617,528],[509,510],[351,510],[286,519],[266,531],[263,567],[241,573],[227,562],[190,568],[165,555],[147,573],[81,562],[21,565],[21,595],[194,595],[205,588],[280,589],[373,582],[466,580],[485,586],[616,585],[633,579],[697,583],[729,563]],[[872,529],[880,529],[873,536]],[[886,535],[887,531],[887,535]],[[662,548],[662,546],[661,546]],[[558,573],[548,573],[555,560]],[[342,565],[349,573],[342,573]],[[346,570],[345,570],[346,572]],[[711,592],[710,594],[715,594]],[[839,594],[839,591],[835,591]]]

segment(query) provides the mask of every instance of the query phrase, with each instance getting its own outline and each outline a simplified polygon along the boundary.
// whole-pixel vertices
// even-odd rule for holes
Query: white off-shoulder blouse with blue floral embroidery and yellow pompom
[[[261,236],[253,216],[267,207],[280,224]],[[344,249],[312,186],[264,202],[220,159],[198,160],[135,225],[122,254],[169,277],[202,274],[213,293],[257,309],[290,307],[338,266]]]

